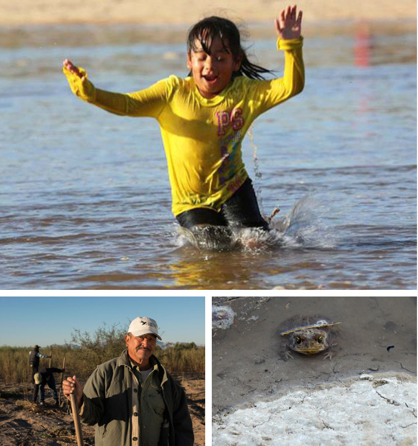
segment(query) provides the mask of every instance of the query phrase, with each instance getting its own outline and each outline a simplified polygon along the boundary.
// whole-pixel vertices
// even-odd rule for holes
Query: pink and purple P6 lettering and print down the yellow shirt
[[[237,107],[231,112],[217,111],[218,136],[220,145],[221,165],[218,169],[219,184],[231,180],[239,166],[238,147],[241,142],[241,129],[244,126],[242,109]],[[233,133],[228,130],[232,128]]]

